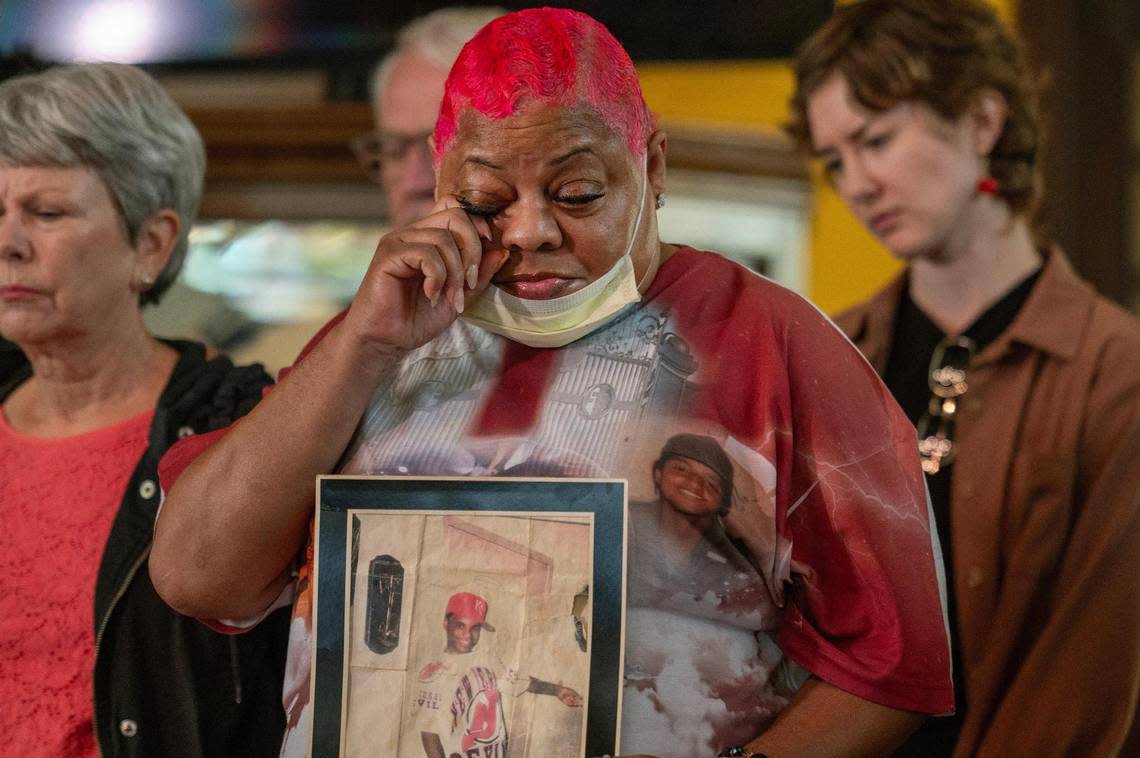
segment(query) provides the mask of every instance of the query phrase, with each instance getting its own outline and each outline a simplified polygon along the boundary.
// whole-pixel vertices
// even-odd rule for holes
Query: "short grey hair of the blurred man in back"
[[[380,93],[388,85],[396,62],[405,52],[415,52],[442,71],[450,71],[467,40],[506,13],[506,8],[498,6],[440,8],[408,22],[396,36],[396,47],[380,59],[373,71],[372,101],[380,103]]]

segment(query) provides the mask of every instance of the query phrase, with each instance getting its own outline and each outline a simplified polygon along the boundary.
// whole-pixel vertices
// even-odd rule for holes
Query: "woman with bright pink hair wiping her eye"
[[[203,618],[272,606],[318,474],[626,478],[624,753],[881,753],[951,710],[905,417],[811,304],[659,238],[666,145],[597,22],[544,8],[483,27],[448,79],[432,213],[380,241],[351,307],[253,414],[165,458],[164,597]],[[652,463],[678,434],[733,473],[677,466],[665,513]],[[709,491],[715,513],[689,514]],[[660,529],[690,515],[715,539]],[[506,718],[481,725],[502,741],[479,756],[505,755]],[[471,730],[456,716],[431,750],[376,739],[467,756],[448,745]]]

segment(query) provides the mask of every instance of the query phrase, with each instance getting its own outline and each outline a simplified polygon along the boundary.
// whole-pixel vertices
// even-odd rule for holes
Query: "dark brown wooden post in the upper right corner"
[[[1044,75],[1037,213],[1044,236],[1105,295],[1134,307],[1132,207],[1138,161],[1132,138],[1135,0],[1018,0],[1029,58]]]

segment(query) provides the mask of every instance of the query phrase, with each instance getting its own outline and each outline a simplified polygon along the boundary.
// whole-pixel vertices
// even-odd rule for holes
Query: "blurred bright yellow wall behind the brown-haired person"
[[[1012,23],[1015,0],[992,0]],[[792,74],[787,62],[652,63],[637,67],[650,108],[662,120],[777,132]],[[898,266],[813,171],[807,295],[834,313],[866,298]]]

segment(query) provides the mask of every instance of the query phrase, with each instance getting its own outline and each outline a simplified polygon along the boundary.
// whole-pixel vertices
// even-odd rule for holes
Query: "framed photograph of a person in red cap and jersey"
[[[626,482],[323,476],[310,755],[619,744]]]

